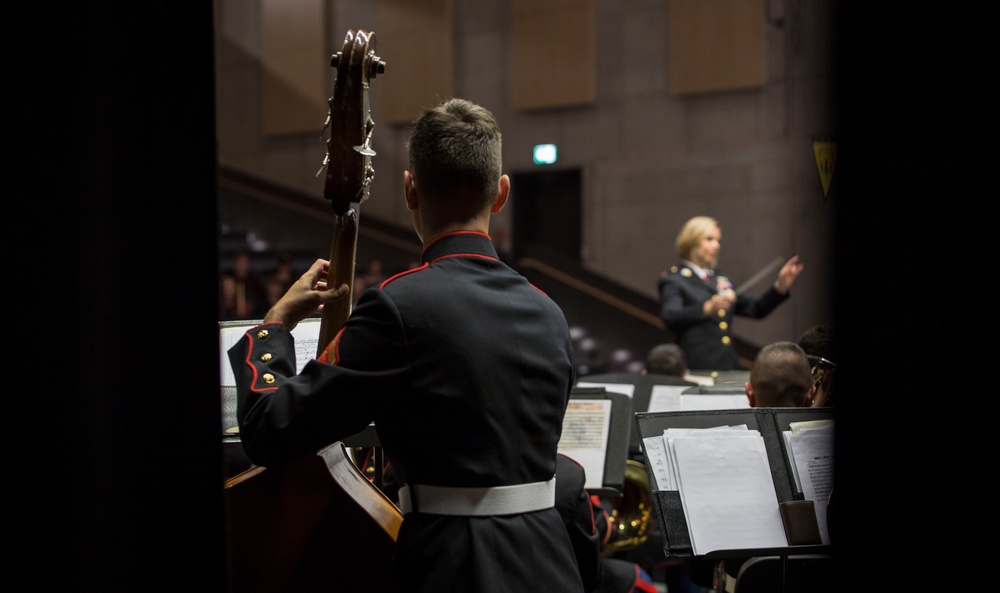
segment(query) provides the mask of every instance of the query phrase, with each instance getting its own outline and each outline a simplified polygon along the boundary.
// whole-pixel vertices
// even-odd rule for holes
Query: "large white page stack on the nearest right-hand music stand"
[[[694,554],[787,546],[760,433],[704,432],[668,441]]]

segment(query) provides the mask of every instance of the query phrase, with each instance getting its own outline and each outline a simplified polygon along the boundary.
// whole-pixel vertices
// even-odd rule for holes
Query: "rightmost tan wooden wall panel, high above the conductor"
[[[673,93],[764,86],[764,0],[670,0],[667,7]]]

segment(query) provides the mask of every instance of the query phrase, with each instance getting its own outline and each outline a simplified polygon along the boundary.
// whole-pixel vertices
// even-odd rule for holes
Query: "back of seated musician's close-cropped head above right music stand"
[[[814,393],[812,367],[795,342],[774,342],[760,349],[745,384],[755,408],[806,407]]]

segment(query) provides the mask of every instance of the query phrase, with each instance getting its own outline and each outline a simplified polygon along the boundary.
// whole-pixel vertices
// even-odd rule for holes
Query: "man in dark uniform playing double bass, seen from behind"
[[[350,293],[327,286],[327,260],[302,275],[229,351],[243,446],[254,463],[281,465],[374,421],[404,484],[399,591],[579,593],[554,507],[573,348],[560,308],[488,234],[510,191],[500,128],[450,99],[420,116],[408,150],[419,267],[365,290],[296,374],[290,330]]]

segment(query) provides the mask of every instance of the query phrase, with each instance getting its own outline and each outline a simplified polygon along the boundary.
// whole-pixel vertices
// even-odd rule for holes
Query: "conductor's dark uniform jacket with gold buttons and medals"
[[[738,370],[739,355],[732,342],[733,316],[761,319],[789,296],[789,293],[782,295],[772,285],[760,297],[742,293],[728,313],[719,311],[717,316],[706,318],[702,312],[705,301],[720,288],[731,288],[728,280],[724,280],[726,286],[720,287],[720,278],[724,277],[715,275],[706,282],[687,265],[679,263],[659,279],[660,318],[676,336],[692,370]]]

